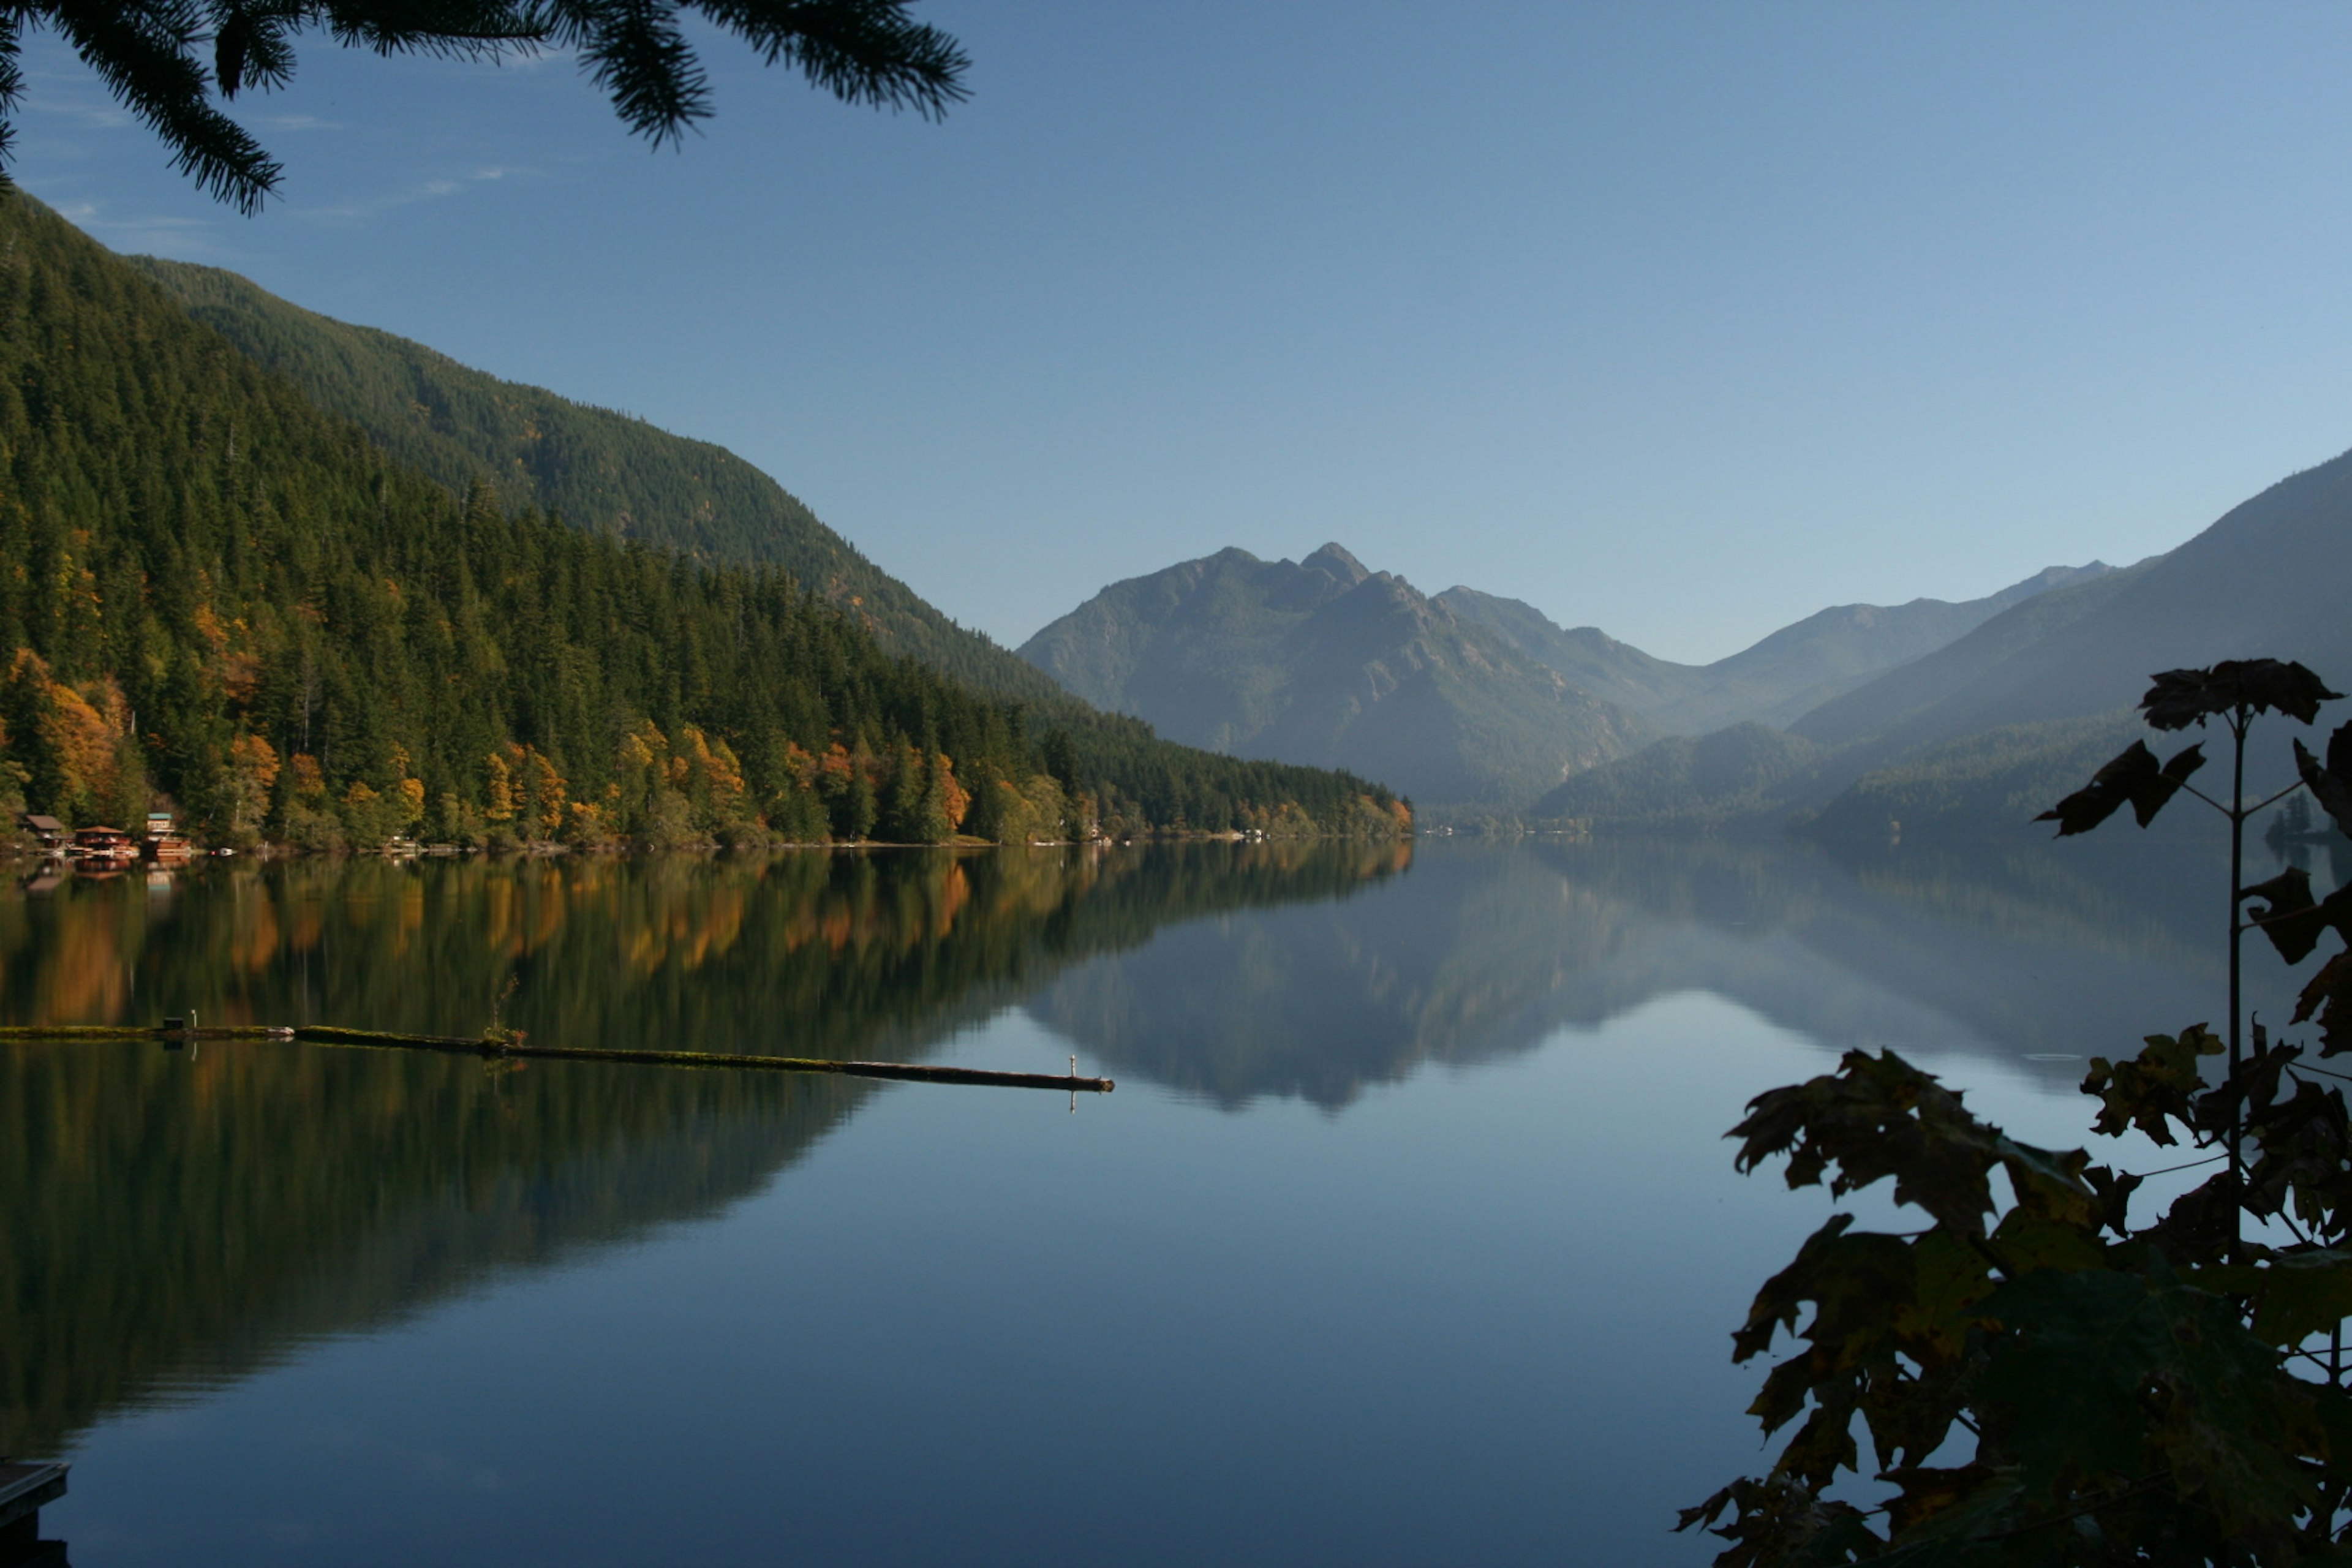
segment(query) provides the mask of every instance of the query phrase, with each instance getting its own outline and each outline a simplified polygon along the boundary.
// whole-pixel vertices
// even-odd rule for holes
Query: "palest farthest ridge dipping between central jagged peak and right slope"
[[[1839,604],[1712,665],[1653,658],[1590,625],[1566,630],[1531,604],[1475,588],[1449,588],[1437,602],[1508,639],[1571,684],[1637,712],[1656,729],[1698,736],[1743,722],[1785,726],[1875,675],[1969,635],[2020,602],[2107,571],[2103,562],[2049,567],[2002,592],[1962,604],[1943,599],[1891,607]]]

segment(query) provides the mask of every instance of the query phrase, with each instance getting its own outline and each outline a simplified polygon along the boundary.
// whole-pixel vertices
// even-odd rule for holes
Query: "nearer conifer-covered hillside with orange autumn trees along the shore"
[[[0,795],[308,844],[1385,830],[1355,778],[978,696],[788,571],[390,458],[0,197]],[[9,799],[7,804],[16,804]]]

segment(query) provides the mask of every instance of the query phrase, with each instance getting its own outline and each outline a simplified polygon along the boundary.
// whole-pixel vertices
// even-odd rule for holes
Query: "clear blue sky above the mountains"
[[[708,42],[240,101],[259,219],[54,42],[103,242],[741,451],[1004,642],[1338,538],[1668,658],[2171,548],[2352,447],[2352,7],[936,0],[943,125]]]

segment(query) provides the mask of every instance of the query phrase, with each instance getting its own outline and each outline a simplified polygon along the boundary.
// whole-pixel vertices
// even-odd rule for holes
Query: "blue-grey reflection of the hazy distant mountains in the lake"
[[[2326,884],[2345,867],[2319,851],[2314,870]],[[1992,1056],[2056,1081],[2218,1013],[2223,886],[2218,849],[2194,842],[1844,858],[1449,844],[1421,853],[1409,889],[1167,931],[1028,1006],[1105,1065],[1225,1107],[1341,1107],[1423,1063],[1524,1051],[1679,992],[1823,1046]],[[2253,947],[2249,997],[2284,1020],[2288,978]]]

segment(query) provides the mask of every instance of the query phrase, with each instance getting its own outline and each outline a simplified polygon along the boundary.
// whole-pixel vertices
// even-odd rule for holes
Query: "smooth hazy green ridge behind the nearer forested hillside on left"
[[[499,381],[423,343],[292,306],[235,273],[155,256],[125,261],[318,407],[355,421],[397,463],[452,489],[487,475],[508,503],[560,512],[574,527],[708,562],[781,564],[835,604],[856,607],[894,651],[993,691],[1054,691],[724,447]]]

